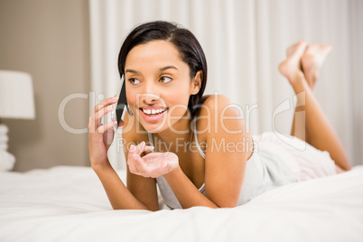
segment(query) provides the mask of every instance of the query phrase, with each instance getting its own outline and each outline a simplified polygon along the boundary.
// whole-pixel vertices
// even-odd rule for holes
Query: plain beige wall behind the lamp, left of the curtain
[[[33,77],[35,120],[2,119],[9,127],[15,171],[54,165],[88,165],[88,135],[65,131],[61,100],[89,91],[87,0],[0,0],[0,70]],[[66,106],[74,128],[87,127],[88,99]]]

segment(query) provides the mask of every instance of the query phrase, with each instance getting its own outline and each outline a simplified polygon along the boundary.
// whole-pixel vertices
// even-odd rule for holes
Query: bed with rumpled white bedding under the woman
[[[234,209],[160,206],[111,209],[89,167],[0,172],[0,241],[363,241],[363,165]]]

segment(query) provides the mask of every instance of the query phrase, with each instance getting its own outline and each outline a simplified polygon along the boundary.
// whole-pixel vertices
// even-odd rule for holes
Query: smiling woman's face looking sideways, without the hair
[[[126,98],[144,129],[159,133],[188,116],[189,98],[200,89],[171,42],[136,45],[126,57]]]

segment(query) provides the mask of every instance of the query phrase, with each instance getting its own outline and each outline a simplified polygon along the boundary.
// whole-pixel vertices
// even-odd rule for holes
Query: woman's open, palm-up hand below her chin
[[[172,170],[178,167],[178,156],[171,152],[155,152],[146,154],[143,157],[140,156],[145,151],[150,152],[153,149],[153,146],[147,146],[144,142],[137,146],[131,144],[127,157],[127,164],[130,172],[144,177],[156,178],[168,172],[172,172]]]

